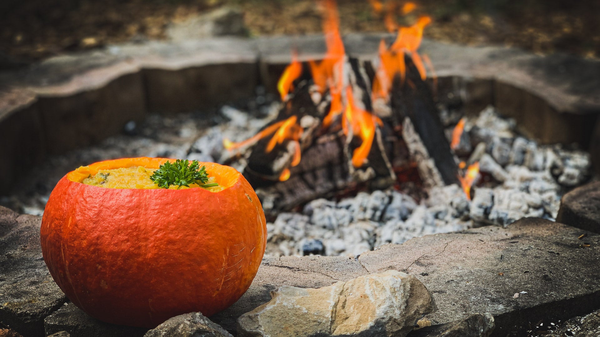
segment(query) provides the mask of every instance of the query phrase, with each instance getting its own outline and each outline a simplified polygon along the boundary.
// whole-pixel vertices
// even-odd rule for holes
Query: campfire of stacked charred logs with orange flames
[[[470,198],[476,163],[467,173],[458,168],[434,101],[436,77],[433,88],[427,82],[427,68],[433,74],[433,67],[418,52],[430,17],[396,29],[388,11],[386,23],[397,37],[389,45],[382,40],[371,62],[346,55],[336,4],[323,5],[325,57],[299,62],[293,53],[277,83],[282,105],[274,121],[250,139],[223,142],[232,159],[244,158],[244,175],[263,195],[277,194],[275,209],[268,211],[359,186],[393,186],[415,168],[419,185],[460,183]],[[383,12],[379,2],[373,7]],[[402,13],[415,8],[407,3]],[[328,174],[315,174],[323,169]]]

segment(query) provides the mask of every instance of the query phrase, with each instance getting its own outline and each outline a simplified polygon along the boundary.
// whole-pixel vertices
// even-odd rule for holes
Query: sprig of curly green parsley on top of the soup
[[[150,179],[157,183],[161,188],[169,188],[170,185],[190,187],[190,183],[197,183],[202,187],[218,186],[218,183],[208,182],[208,172],[206,172],[206,166],[200,167],[200,163],[197,160],[190,161],[176,160],[175,163],[166,161],[163,165],[158,167],[158,170],[154,171],[154,174],[150,176]]]

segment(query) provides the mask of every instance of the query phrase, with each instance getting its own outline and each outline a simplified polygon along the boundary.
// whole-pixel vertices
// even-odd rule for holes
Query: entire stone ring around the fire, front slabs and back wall
[[[375,56],[381,37],[347,35],[349,55]],[[126,122],[148,113],[218,106],[252,97],[256,85],[275,92],[292,46],[302,59],[318,58],[325,50],[320,36],[152,42],[59,56],[29,70],[1,73],[0,154],[5,163],[35,164],[119,133]],[[542,143],[591,145],[592,158],[600,157],[593,152],[600,143],[600,125],[594,126],[600,86],[593,76],[600,62],[431,41],[422,50],[436,66],[440,100],[460,100],[467,113],[494,104],[517,119],[528,136]],[[24,159],[24,154],[31,155]],[[1,166],[0,192],[6,193],[18,174],[16,167]],[[268,302],[269,292],[281,285],[317,288],[395,269],[416,276],[433,294],[439,309],[427,317],[433,324],[489,312],[496,324],[493,336],[523,332],[542,319],[565,320],[600,308],[600,234],[577,228],[577,219],[570,216],[566,225],[525,218],[507,228],[418,237],[365,252],[358,260],[265,258],[247,293],[211,320],[235,333],[236,319]],[[38,216],[0,207],[2,325],[25,337],[61,331],[144,335],[143,329],[94,320],[68,303],[41,257],[40,222]]]

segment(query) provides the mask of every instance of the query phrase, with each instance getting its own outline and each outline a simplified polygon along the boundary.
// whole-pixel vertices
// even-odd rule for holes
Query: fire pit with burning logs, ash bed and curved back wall
[[[426,16],[398,35],[341,37],[326,3],[324,38],[111,46],[2,74],[0,152],[10,164],[0,168],[1,204],[39,216],[66,171],[95,161],[215,161],[256,189],[268,221],[263,265],[320,255],[331,258],[305,259],[363,258],[382,271],[377,248],[414,237],[536,236],[519,220],[554,221],[562,195],[593,179],[600,95],[588,73],[599,62],[422,41]],[[470,242],[460,235],[424,260]],[[282,265],[306,271],[294,263]],[[344,280],[364,273],[344,268]],[[241,305],[231,315],[254,309]],[[216,320],[231,332],[226,315]]]

